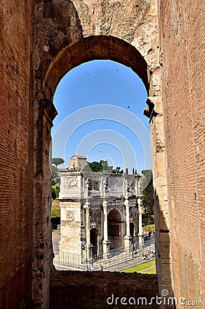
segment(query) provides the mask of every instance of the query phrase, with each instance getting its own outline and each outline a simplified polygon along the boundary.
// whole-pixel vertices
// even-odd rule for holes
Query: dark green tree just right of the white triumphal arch
[[[153,176],[151,170],[142,170],[142,206],[149,214],[153,214]]]

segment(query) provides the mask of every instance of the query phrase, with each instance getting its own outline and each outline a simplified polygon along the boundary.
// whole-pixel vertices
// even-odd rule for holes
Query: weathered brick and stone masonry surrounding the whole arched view
[[[0,9],[0,307],[63,308],[63,290],[92,295],[96,308],[116,286],[120,297],[125,286],[144,296],[142,275],[103,273],[99,297],[92,283],[102,277],[76,273],[66,286],[69,274],[51,271],[52,100],[65,73],[95,59],[131,67],[149,98],[159,291],[146,295],[205,303],[204,1],[1,0]]]

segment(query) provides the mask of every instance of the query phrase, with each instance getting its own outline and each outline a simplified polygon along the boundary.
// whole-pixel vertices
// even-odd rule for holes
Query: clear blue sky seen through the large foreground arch
[[[94,60],[69,71],[58,84],[52,157],[67,167],[72,155],[138,172],[151,168],[147,91],[130,68]]]

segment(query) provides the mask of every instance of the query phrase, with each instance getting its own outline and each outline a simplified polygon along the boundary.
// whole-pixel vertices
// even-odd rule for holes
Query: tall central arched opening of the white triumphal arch
[[[109,211],[107,216],[107,230],[108,239],[110,241],[110,249],[123,247],[123,223],[125,225],[125,222],[121,220],[121,216],[118,210],[113,209]]]

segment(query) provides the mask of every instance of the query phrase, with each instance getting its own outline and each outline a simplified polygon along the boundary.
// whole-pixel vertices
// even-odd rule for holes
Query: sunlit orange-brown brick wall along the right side
[[[173,290],[205,301],[204,1],[158,2]]]

